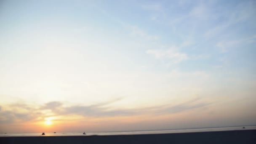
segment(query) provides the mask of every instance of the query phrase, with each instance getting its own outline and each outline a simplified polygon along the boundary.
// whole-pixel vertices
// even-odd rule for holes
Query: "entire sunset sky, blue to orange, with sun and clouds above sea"
[[[254,0],[1,0],[0,133],[256,125]]]

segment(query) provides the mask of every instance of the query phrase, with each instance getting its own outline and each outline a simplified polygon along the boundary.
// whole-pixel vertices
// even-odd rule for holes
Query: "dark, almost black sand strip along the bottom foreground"
[[[0,137],[0,144],[256,144],[256,130],[116,136]]]

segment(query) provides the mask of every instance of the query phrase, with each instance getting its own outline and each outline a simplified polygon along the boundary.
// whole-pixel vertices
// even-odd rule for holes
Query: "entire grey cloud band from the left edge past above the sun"
[[[17,122],[27,122],[31,120],[44,120],[45,117],[49,117],[49,115],[45,115],[43,110],[50,109],[54,115],[52,116],[64,116],[64,115],[80,115],[83,117],[115,117],[115,116],[136,116],[136,115],[158,115],[158,114],[171,114],[177,112],[183,112],[186,110],[206,107],[209,103],[200,102],[203,101],[201,98],[192,99],[191,101],[187,101],[181,104],[168,104],[168,105],[159,105],[154,107],[144,107],[137,109],[110,109],[111,107],[105,107],[119,99],[114,99],[109,102],[104,102],[101,104],[93,104],[90,106],[83,105],[71,105],[69,107],[64,107],[62,102],[60,101],[52,101],[44,104],[40,108],[32,107],[27,104],[23,104],[24,106],[30,109],[29,112],[20,112],[14,111],[14,109],[19,109],[18,105],[14,105],[10,110],[1,110],[0,111],[0,124],[5,123],[17,123]],[[174,103],[174,102],[173,102]],[[56,109],[58,107],[59,109]]]

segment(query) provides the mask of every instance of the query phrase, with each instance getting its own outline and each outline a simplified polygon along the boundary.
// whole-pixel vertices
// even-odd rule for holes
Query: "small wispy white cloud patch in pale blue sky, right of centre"
[[[151,54],[155,56],[156,59],[169,59],[172,63],[177,64],[181,61],[185,61],[188,59],[186,53],[181,53],[178,51],[174,51],[172,49],[168,50],[147,50],[147,54]]]

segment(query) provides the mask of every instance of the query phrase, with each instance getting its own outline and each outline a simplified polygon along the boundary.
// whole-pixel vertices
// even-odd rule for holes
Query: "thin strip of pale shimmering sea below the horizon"
[[[157,130],[157,131],[119,131],[119,132],[74,132],[74,133],[0,133],[0,137],[5,136],[105,136],[105,135],[133,135],[133,134],[160,134],[160,133],[191,133],[191,132],[208,132],[208,131],[235,131],[235,130],[254,130],[256,126],[224,127],[224,128],[196,128],[196,129],[178,129],[178,130]]]

